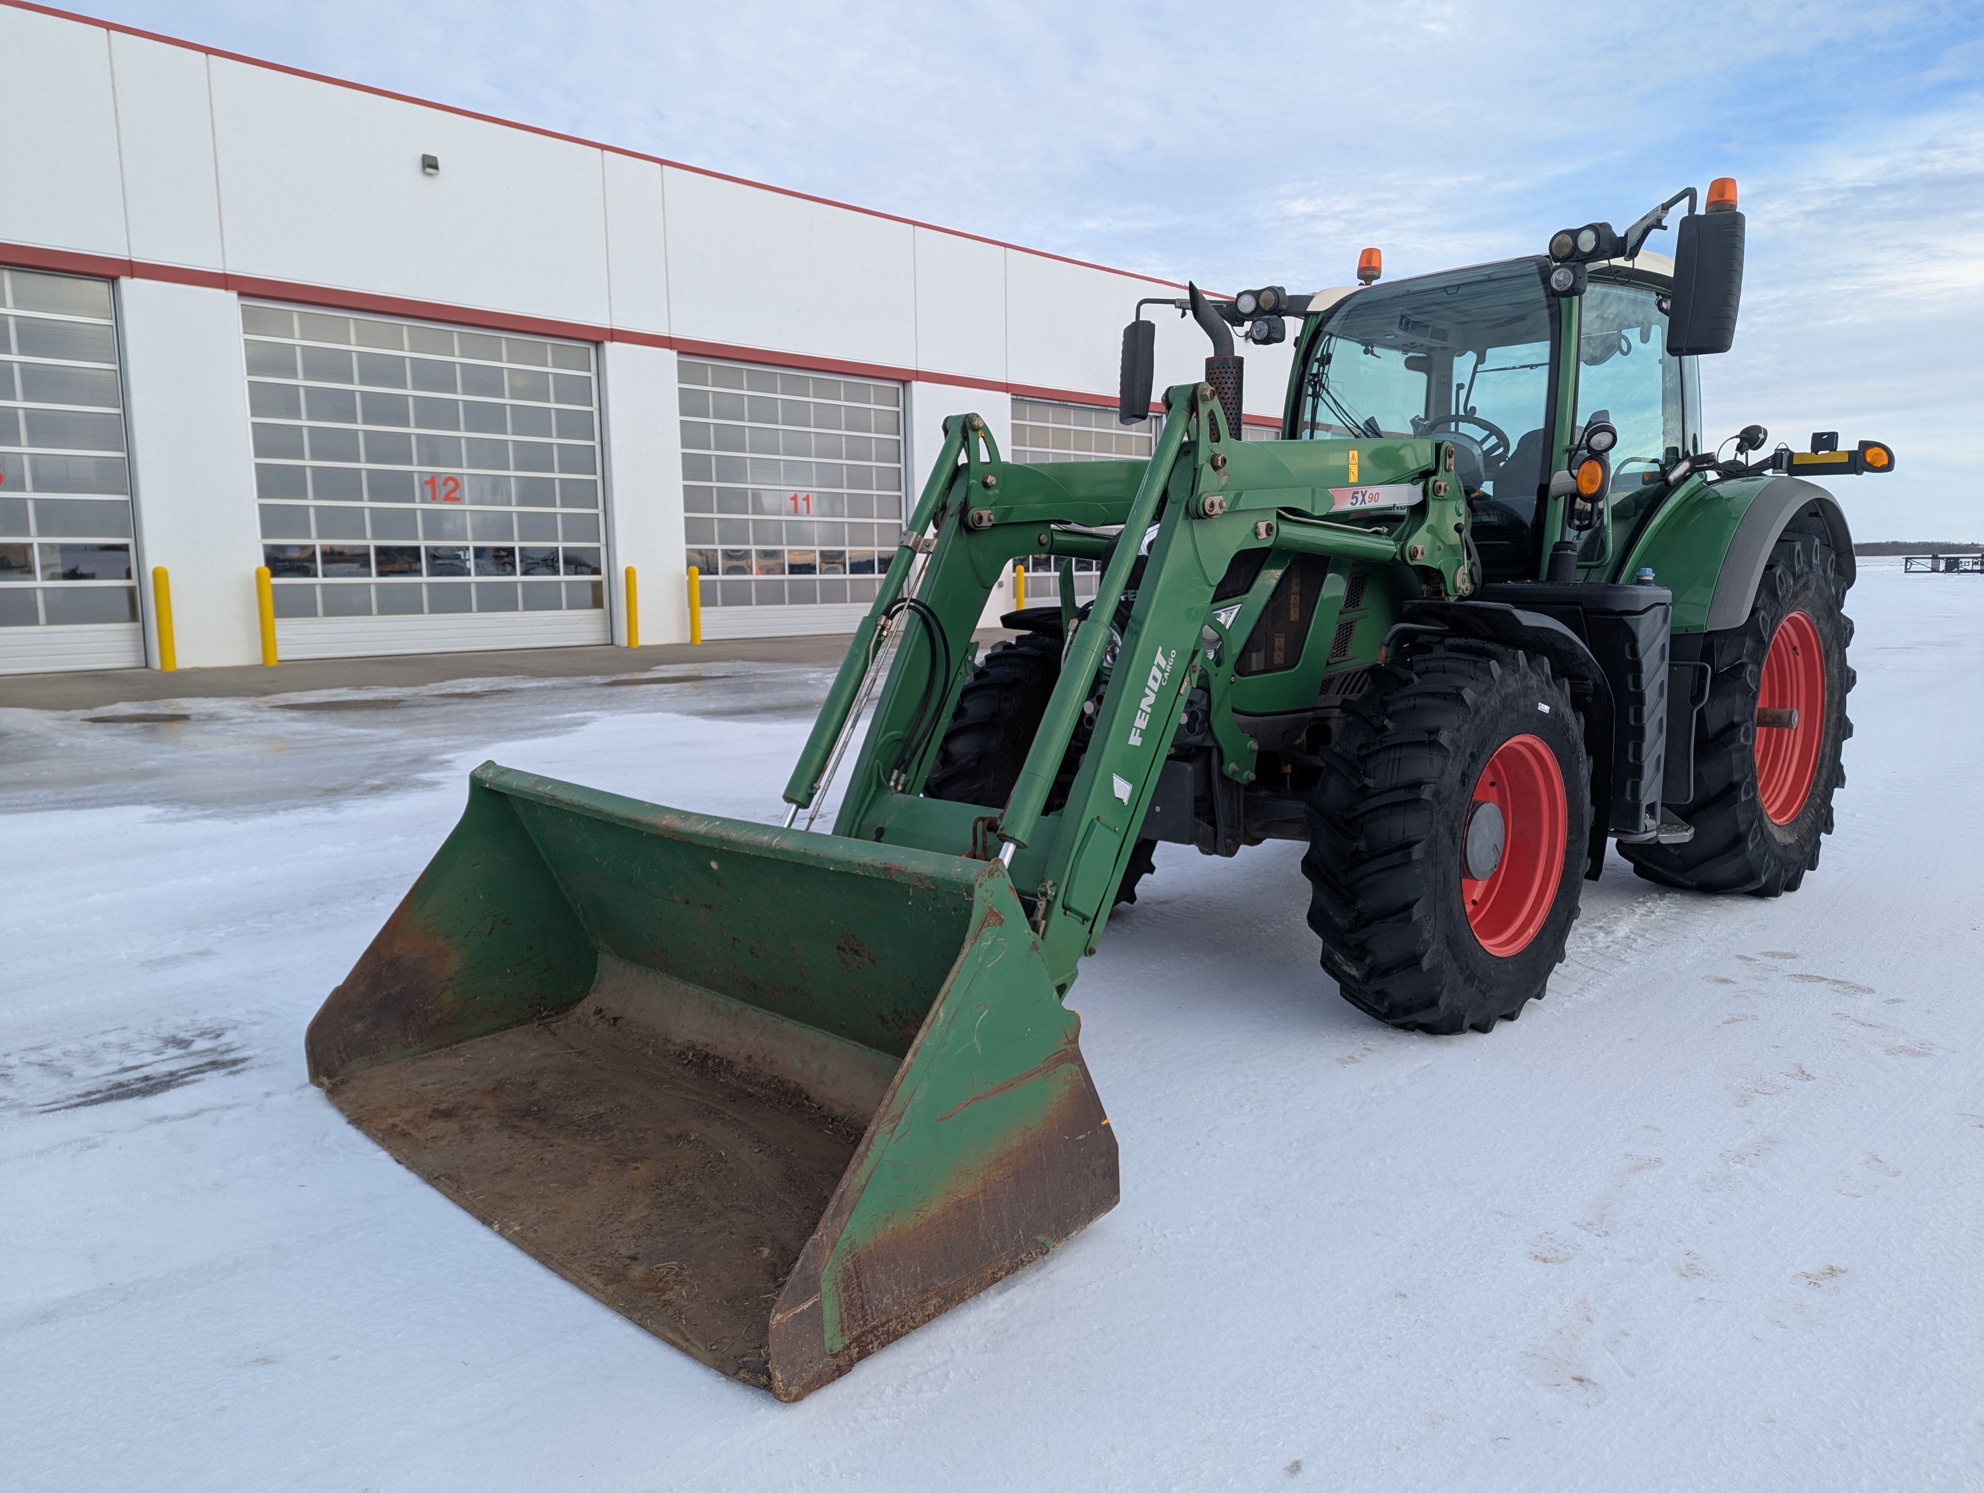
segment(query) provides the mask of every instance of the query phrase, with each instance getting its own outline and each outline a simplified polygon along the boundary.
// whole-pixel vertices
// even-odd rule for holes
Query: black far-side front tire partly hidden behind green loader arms
[[[1012,642],[994,644],[958,692],[958,708],[923,787],[925,797],[1004,809],[1059,676],[1061,640],[1048,632],[1022,632]],[[1073,781],[1081,757],[1069,751],[1061,779]],[[1157,868],[1151,862],[1155,849],[1157,841],[1131,847],[1115,906],[1137,900],[1137,882]]]

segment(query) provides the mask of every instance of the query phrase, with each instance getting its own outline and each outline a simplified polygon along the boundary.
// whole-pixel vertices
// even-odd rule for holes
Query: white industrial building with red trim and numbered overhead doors
[[[0,672],[157,666],[155,567],[183,668],[262,565],[284,658],[625,642],[627,567],[643,642],[688,565],[706,636],[839,632],[944,414],[1149,450],[1177,286],[16,0],[0,57]]]

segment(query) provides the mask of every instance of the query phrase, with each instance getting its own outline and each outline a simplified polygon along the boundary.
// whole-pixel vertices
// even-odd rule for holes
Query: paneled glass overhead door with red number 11
[[[903,533],[903,389],[679,363],[706,636],[851,632]]]

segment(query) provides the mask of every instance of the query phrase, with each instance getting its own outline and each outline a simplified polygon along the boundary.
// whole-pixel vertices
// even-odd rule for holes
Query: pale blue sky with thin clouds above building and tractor
[[[107,0],[107,20],[1075,258],[1345,284],[1736,176],[1714,434],[1881,436],[1865,539],[1984,539],[1984,4]],[[1655,236],[1665,248],[1673,236]]]

